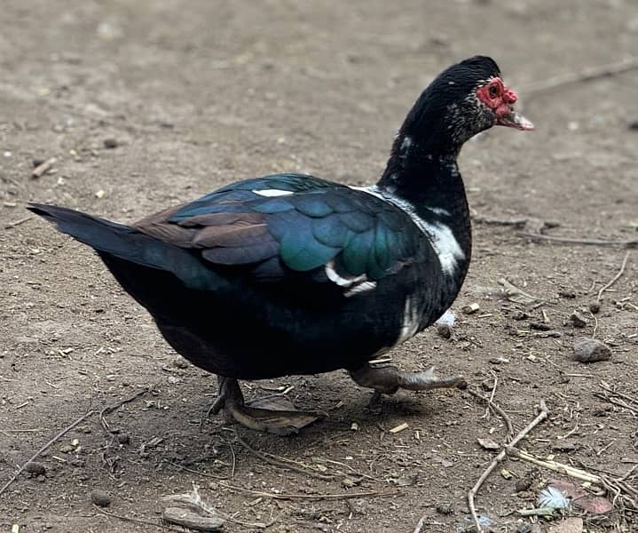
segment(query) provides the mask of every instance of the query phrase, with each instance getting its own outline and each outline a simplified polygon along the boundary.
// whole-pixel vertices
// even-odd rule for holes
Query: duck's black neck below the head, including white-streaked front
[[[460,147],[432,149],[399,133],[379,192],[403,203],[414,223],[429,235],[445,277],[441,305],[452,305],[468,273],[471,227],[465,187],[456,163]]]

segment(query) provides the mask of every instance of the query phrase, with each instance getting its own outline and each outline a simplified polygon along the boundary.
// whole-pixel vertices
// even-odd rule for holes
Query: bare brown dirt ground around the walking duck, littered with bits
[[[633,0],[4,0],[0,28],[0,485],[92,411],[37,459],[43,475],[22,473],[0,496],[2,531],[160,530],[161,497],[193,483],[232,519],[227,531],[411,532],[421,516],[421,531],[469,526],[467,492],[498,453],[477,439],[506,438],[503,419],[485,417],[474,396],[401,392],[379,411],[344,372],[244,384],[251,398],[293,386],[295,405],[329,414],[292,438],[238,429],[260,456],[222,418],[207,418],[216,380],[177,364],[97,257],[24,220],[24,205],[130,222],[274,171],[370,184],[421,89],[476,53],[500,63],[537,131],[500,128],[464,148],[478,219],[453,337],[427,330],[392,358],[406,370],[463,373],[486,396],[496,382],[493,401],[515,432],[544,399],[548,421],[519,445],[537,457],[610,475],[638,464],[629,378],[638,370],[638,252],[591,314],[625,250],[531,242],[520,227],[479,221],[542,219],[559,224],[547,235],[638,238],[638,71],[533,91],[635,53]],[[50,157],[52,171],[32,179],[34,160]],[[508,301],[501,278],[543,302]],[[479,311],[462,314],[470,303]],[[569,320],[574,310],[582,329]],[[594,334],[610,361],[573,361],[574,340]],[[110,432],[100,425],[99,411],[145,388],[105,413]],[[494,530],[514,531],[533,520],[516,511],[556,476],[508,460],[479,490],[478,512]],[[530,488],[516,492],[526,478]],[[638,486],[633,474],[627,482]],[[92,505],[96,489],[108,507]],[[286,494],[296,497],[275,498]],[[311,497],[343,494],[361,496]],[[638,531],[627,509],[569,514],[590,532]]]

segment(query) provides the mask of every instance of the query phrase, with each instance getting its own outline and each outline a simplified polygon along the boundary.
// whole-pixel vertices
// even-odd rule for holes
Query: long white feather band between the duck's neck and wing
[[[443,269],[444,274],[448,274],[450,276],[454,275],[454,271],[456,270],[459,261],[465,259],[465,253],[461,248],[461,244],[459,244],[456,237],[454,237],[453,231],[449,226],[443,222],[428,222],[421,219],[414,210],[414,205],[412,203],[409,203],[396,195],[390,194],[389,191],[382,191],[375,185],[372,187],[351,188],[355,188],[359,191],[364,191],[369,195],[381,198],[386,202],[396,205],[401,211],[406,212],[410,219],[413,220],[414,224],[416,224],[416,226],[419,227],[425,235],[428,235],[429,242],[432,243],[432,248],[434,248],[434,251],[437,252],[437,257],[441,263],[441,268]],[[430,208],[429,211],[439,216],[448,214],[447,211],[437,207]]]

